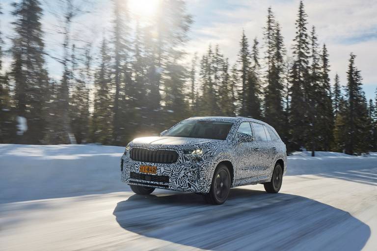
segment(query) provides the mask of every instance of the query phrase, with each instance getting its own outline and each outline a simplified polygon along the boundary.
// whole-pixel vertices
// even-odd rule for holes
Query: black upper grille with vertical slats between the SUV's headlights
[[[133,147],[130,158],[136,161],[171,164],[177,161],[178,154],[172,150],[148,150]]]

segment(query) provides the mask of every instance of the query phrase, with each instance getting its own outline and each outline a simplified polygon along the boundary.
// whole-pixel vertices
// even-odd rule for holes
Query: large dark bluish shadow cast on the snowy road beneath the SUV
[[[200,249],[360,251],[370,228],[350,213],[305,197],[231,189],[223,205],[192,193],[133,195],[118,224],[147,237]]]

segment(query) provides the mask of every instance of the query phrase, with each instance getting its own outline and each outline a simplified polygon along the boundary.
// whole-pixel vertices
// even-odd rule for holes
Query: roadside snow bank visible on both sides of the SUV
[[[129,191],[120,181],[124,147],[0,144],[0,203]],[[295,152],[287,175],[321,174],[377,167],[369,157]]]

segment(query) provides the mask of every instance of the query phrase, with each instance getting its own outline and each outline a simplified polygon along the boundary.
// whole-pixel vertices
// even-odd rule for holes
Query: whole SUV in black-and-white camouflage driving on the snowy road
[[[229,189],[263,183],[277,193],[287,171],[286,147],[267,123],[245,117],[190,117],[160,137],[131,141],[122,181],[136,194],[155,188],[202,194],[222,204]]]

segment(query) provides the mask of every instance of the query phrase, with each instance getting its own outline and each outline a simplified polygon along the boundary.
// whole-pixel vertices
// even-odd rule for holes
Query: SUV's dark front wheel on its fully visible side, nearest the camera
[[[213,205],[223,204],[228,199],[230,186],[231,179],[228,167],[224,164],[218,165],[212,179],[210,192],[203,195],[204,200]]]

